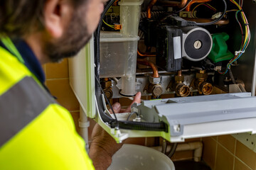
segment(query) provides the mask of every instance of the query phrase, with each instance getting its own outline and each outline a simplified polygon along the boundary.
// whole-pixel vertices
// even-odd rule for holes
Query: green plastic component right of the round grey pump
[[[227,33],[215,33],[212,35],[213,47],[208,58],[214,63],[225,60],[231,60],[234,55],[228,50],[226,41],[229,39]]]

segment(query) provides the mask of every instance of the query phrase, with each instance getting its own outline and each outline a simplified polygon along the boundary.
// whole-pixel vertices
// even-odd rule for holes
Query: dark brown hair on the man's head
[[[70,0],[75,7],[85,0]],[[0,34],[23,37],[44,28],[46,0],[0,0]]]

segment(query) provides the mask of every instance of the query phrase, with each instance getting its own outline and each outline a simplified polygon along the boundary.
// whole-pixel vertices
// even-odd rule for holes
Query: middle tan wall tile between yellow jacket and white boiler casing
[[[68,111],[79,111],[79,103],[75,94],[70,88],[68,79],[50,79],[46,80],[46,86],[57,101]]]

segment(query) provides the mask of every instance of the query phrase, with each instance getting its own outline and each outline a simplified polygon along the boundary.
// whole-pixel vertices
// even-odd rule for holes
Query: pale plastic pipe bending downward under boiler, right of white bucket
[[[161,146],[159,147],[152,147],[159,152],[161,152]],[[169,152],[171,150],[171,146],[168,145],[166,152]],[[188,142],[188,143],[182,143],[178,144],[176,151],[186,151],[186,150],[193,150],[193,159],[195,162],[200,162],[203,152],[203,143],[202,142]]]

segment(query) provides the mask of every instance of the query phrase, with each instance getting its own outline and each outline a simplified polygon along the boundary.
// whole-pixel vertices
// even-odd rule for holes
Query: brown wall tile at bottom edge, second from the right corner
[[[234,157],[224,147],[217,146],[216,170],[233,170]]]

